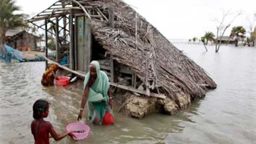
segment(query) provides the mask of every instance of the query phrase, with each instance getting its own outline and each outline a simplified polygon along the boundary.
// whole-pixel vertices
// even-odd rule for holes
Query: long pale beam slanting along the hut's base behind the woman
[[[68,68],[68,67],[66,67],[66,66],[62,66],[62,65],[60,65],[59,63],[54,62],[54,61],[50,60],[49,58],[46,58],[45,56],[43,56],[43,57],[44,57],[44,59],[45,59],[46,61],[49,61],[49,62],[51,62],[51,63],[53,63],[53,64],[57,64],[60,68],[63,68],[64,70],[67,70],[67,71],[69,71],[69,72],[72,72],[72,73],[74,73],[74,74],[77,74],[78,76],[82,76],[82,77],[85,77],[85,76],[86,76],[86,74],[82,74],[81,72],[77,72],[77,71],[75,71],[75,70],[71,70],[70,68]],[[131,92],[136,92],[136,93],[139,93],[139,94],[144,94],[144,95],[146,95],[146,91],[145,91],[145,90],[137,90],[137,89],[135,89],[135,88],[133,88],[133,87],[131,87],[131,86],[123,86],[123,85],[120,85],[120,84],[116,84],[116,83],[114,83],[114,82],[109,82],[109,83],[110,83],[110,85],[112,85],[112,86],[116,86],[116,87],[122,88],[122,89],[124,89],[124,90],[128,90],[128,91],[131,91]],[[162,99],[165,99],[165,98],[166,98],[166,96],[164,96],[164,94],[156,94],[156,93],[154,93],[154,92],[150,92],[150,96],[153,96],[153,97],[156,97],[156,98],[162,98]]]

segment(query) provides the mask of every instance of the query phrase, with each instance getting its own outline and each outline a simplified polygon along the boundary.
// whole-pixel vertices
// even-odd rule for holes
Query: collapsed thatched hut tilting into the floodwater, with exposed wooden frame
[[[69,24],[60,26],[61,18],[69,18]],[[62,38],[70,46],[70,71],[87,72],[90,61],[98,60],[111,85],[136,95],[158,97],[128,96],[121,109],[128,110],[131,116],[141,118],[158,108],[174,114],[192,100],[204,98],[208,89],[216,88],[200,66],[121,0],[58,1],[28,22],[38,20],[45,20],[46,36],[48,22],[54,24],[56,62],[60,62],[62,50],[59,29],[68,31],[69,38]],[[138,109],[134,109],[136,106]]]

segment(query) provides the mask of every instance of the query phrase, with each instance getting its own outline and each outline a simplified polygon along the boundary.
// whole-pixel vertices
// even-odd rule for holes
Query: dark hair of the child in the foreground
[[[37,100],[33,104],[33,118],[36,120],[40,119],[38,112],[45,112],[48,106],[49,102],[47,102],[46,100]]]

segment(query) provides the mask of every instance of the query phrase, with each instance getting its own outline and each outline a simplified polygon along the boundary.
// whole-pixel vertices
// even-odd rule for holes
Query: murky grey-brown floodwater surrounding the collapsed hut
[[[67,137],[58,143],[255,144],[256,48],[222,46],[216,54],[213,46],[208,52],[202,45],[176,46],[209,73],[218,84],[216,90],[175,116],[151,114],[137,120],[115,110],[113,126],[90,125],[87,139],[75,142]],[[50,101],[46,120],[58,132],[65,132],[66,125],[76,121],[82,91],[43,87],[44,67],[44,62],[0,62],[0,144],[34,142],[30,122],[32,105],[39,98]]]

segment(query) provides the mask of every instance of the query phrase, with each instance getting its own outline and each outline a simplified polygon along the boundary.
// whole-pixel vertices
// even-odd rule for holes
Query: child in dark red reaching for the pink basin
[[[50,122],[44,121],[49,114],[50,104],[45,100],[37,100],[33,105],[33,118],[31,123],[31,132],[34,136],[35,144],[50,144],[49,138],[54,138],[55,141],[69,135],[75,137],[72,132],[65,134],[57,133]],[[49,135],[50,134],[50,135]]]

